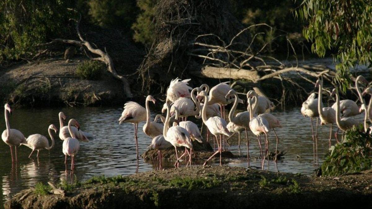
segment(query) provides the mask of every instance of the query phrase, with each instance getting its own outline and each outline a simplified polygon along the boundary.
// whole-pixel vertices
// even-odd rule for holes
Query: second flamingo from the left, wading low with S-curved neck
[[[38,151],[38,154],[36,155],[36,157],[39,157],[39,151],[41,149],[52,149],[54,147],[54,137],[52,135],[52,131],[51,130],[54,130],[54,132],[57,134],[58,132],[58,129],[57,127],[55,127],[55,125],[51,124],[49,127],[48,127],[48,133],[49,133],[49,136],[52,140],[52,145],[49,146],[49,143],[48,143],[48,139],[47,137],[41,135],[41,134],[32,134],[30,136],[27,137],[26,139],[26,143],[21,143],[29,148],[32,149],[31,151],[31,154],[28,156],[28,158],[31,158],[31,155],[33,153],[33,151],[37,150]]]

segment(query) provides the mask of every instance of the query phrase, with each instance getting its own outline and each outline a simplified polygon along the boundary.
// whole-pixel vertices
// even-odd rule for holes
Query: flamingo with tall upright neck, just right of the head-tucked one
[[[331,131],[329,134],[329,147],[331,148],[331,138],[332,138],[332,127],[336,123],[336,111],[332,107],[323,107],[322,102],[322,91],[323,91],[323,82],[317,80],[315,88],[319,87],[318,91],[318,113],[320,118],[320,125],[331,124]]]

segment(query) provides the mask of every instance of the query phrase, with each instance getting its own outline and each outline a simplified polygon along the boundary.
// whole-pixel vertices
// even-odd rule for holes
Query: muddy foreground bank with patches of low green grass
[[[65,186],[64,196],[23,190],[5,208],[371,208],[371,180],[370,172],[331,178],[195,166],[93,177]]]

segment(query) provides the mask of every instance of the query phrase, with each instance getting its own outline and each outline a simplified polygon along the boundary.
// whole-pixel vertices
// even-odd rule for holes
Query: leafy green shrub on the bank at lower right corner
[[[341,144],[330,148],[321,167],[322,175],[338,176],[371,169],[371,143],[372,136],[364,132],[362,125],[353,127],[345,133]]]

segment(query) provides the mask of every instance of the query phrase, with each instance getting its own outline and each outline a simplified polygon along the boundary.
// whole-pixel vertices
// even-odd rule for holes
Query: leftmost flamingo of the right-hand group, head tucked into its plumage
[[[301,114],[306,118],[309,117],[311,120],[311,131],[312,131],[312,149],[314,153],[314,161],[315,159],[318,160],[318,120],[319,120],[319,112],[318,112],[318,99],[315,99],[316,94],[312,93],[307,98],[307,100],[302,103],[301,107]],[[312,125],[312,119],[317,118],[317,127],[315,130],[314,135],[314,126]],[[316,147],[316,148],[315,148]],[[315,157],[316,153],[316,157]]]

